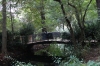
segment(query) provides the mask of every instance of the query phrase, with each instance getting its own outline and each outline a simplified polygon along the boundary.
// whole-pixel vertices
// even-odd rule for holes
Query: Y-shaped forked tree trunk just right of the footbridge
[[[91,4],[91,2],[92,2],[92,0],[90,0],[90,2],[88,3],[88,5],[87,5],[87,7],[84,11],[83,17],[79,16],[80,14],[79,14],[79,11],[78,11],[77,7],[68,2],[68,5],[70,5],[71,7],[73,7],[75,9],[76,18],[77,18],[77,21],[78,21],[79,28],[81,30],[81,35],[80,35],[80,38],[79,38],[79,44],[82,44],[84,42],[84,39],[85,39],[85,32],[84,32],[85,31],[85,25],[84,25],[84,22],[85,22],[85,16],[86,16],[88,7]]]

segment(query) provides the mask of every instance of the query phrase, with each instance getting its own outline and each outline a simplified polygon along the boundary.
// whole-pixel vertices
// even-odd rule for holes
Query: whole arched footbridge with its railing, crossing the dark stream
[[[48,46],[49,44],[72,44],[72,42],[70,41],[70,38],[66,36],[67,35],[64,35],[62,37],[60,32],[35,34],[33,37],[31,36],[29,38],[27,46],[28,48],[33,48],[34,45],[38,46],[39,44],[41,44],[41,46],[45,48],[45,46],[46,45]],[[66,38],[69,38],[69,40],[67,40]],[[84,42],[89,42],[89,41],[84,41]],[[92,42],[95,42],[95,41],[92,41]]]

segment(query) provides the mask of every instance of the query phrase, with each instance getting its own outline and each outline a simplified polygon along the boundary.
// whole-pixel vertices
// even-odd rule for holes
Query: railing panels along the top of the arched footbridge
[[[27,36],[28,44],[33,42],[41,42],[41,41],[61,41],[62,35],[60,32],[48,32],[48,33],[38,33],[38,34],[32,34]],[[59,40],[60,39],[60,40]],[[25,43],[25,36],[20,37],[21,43]]]

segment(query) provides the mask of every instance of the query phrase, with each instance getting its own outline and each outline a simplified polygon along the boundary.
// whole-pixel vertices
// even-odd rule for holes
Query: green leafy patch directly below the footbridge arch
[[[35,54],[36,55],[49,55],[49,56],[63,56],[63,50],[57,44],[51,44],[49,47],[35,52]]]

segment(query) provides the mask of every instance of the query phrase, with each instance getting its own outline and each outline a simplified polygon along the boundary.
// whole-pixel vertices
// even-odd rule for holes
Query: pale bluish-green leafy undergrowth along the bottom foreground
[[[37,65],[32,65],[31,63],[17,61],[13,66],[37,66]],[[100,62],[89,60],[87,63],[85,63],[83,60],[80,61],[75,56],[70,56],[70,59],[68,61],[63,60],[61,63],[59,63],[59,66],[100,66]]]

